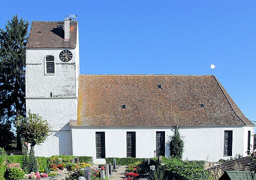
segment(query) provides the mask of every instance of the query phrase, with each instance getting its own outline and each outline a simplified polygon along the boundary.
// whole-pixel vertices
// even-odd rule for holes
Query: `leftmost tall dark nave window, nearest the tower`
[[[96,132],[96,158],[105,158],[105,132]]]

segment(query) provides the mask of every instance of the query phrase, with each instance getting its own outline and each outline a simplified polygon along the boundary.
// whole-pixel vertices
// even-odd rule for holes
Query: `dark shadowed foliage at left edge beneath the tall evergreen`
[[[15,140],[16,137],[11,130],[11,123],[0,123],[0,148],[4,148],[5,150],[13,148],[16,143]]]

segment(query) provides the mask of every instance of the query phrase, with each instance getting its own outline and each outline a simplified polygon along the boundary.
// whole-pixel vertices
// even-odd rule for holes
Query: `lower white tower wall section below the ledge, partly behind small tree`
[[[69,121],[76,119],[76,98],[26,99],[26,107],[47,120],[52,132],[41,145],[35,146],[35,155],[71,155],[71,132]]]

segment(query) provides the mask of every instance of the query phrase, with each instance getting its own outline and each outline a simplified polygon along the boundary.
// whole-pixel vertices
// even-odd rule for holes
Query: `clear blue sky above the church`
[[[77,15],[80,74],[213,74],[256,121],[256,1],[2,0],[13,15],[61,21]],[[30,26],[29,26],[30,28]]]

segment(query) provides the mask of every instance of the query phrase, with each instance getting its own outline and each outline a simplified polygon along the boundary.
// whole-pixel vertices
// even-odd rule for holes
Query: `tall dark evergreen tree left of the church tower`
[[[17,15],[0,28],[0,121],[25,116],[25,44],[28,22]],[[17,148],[21,150],[17,134]]]

